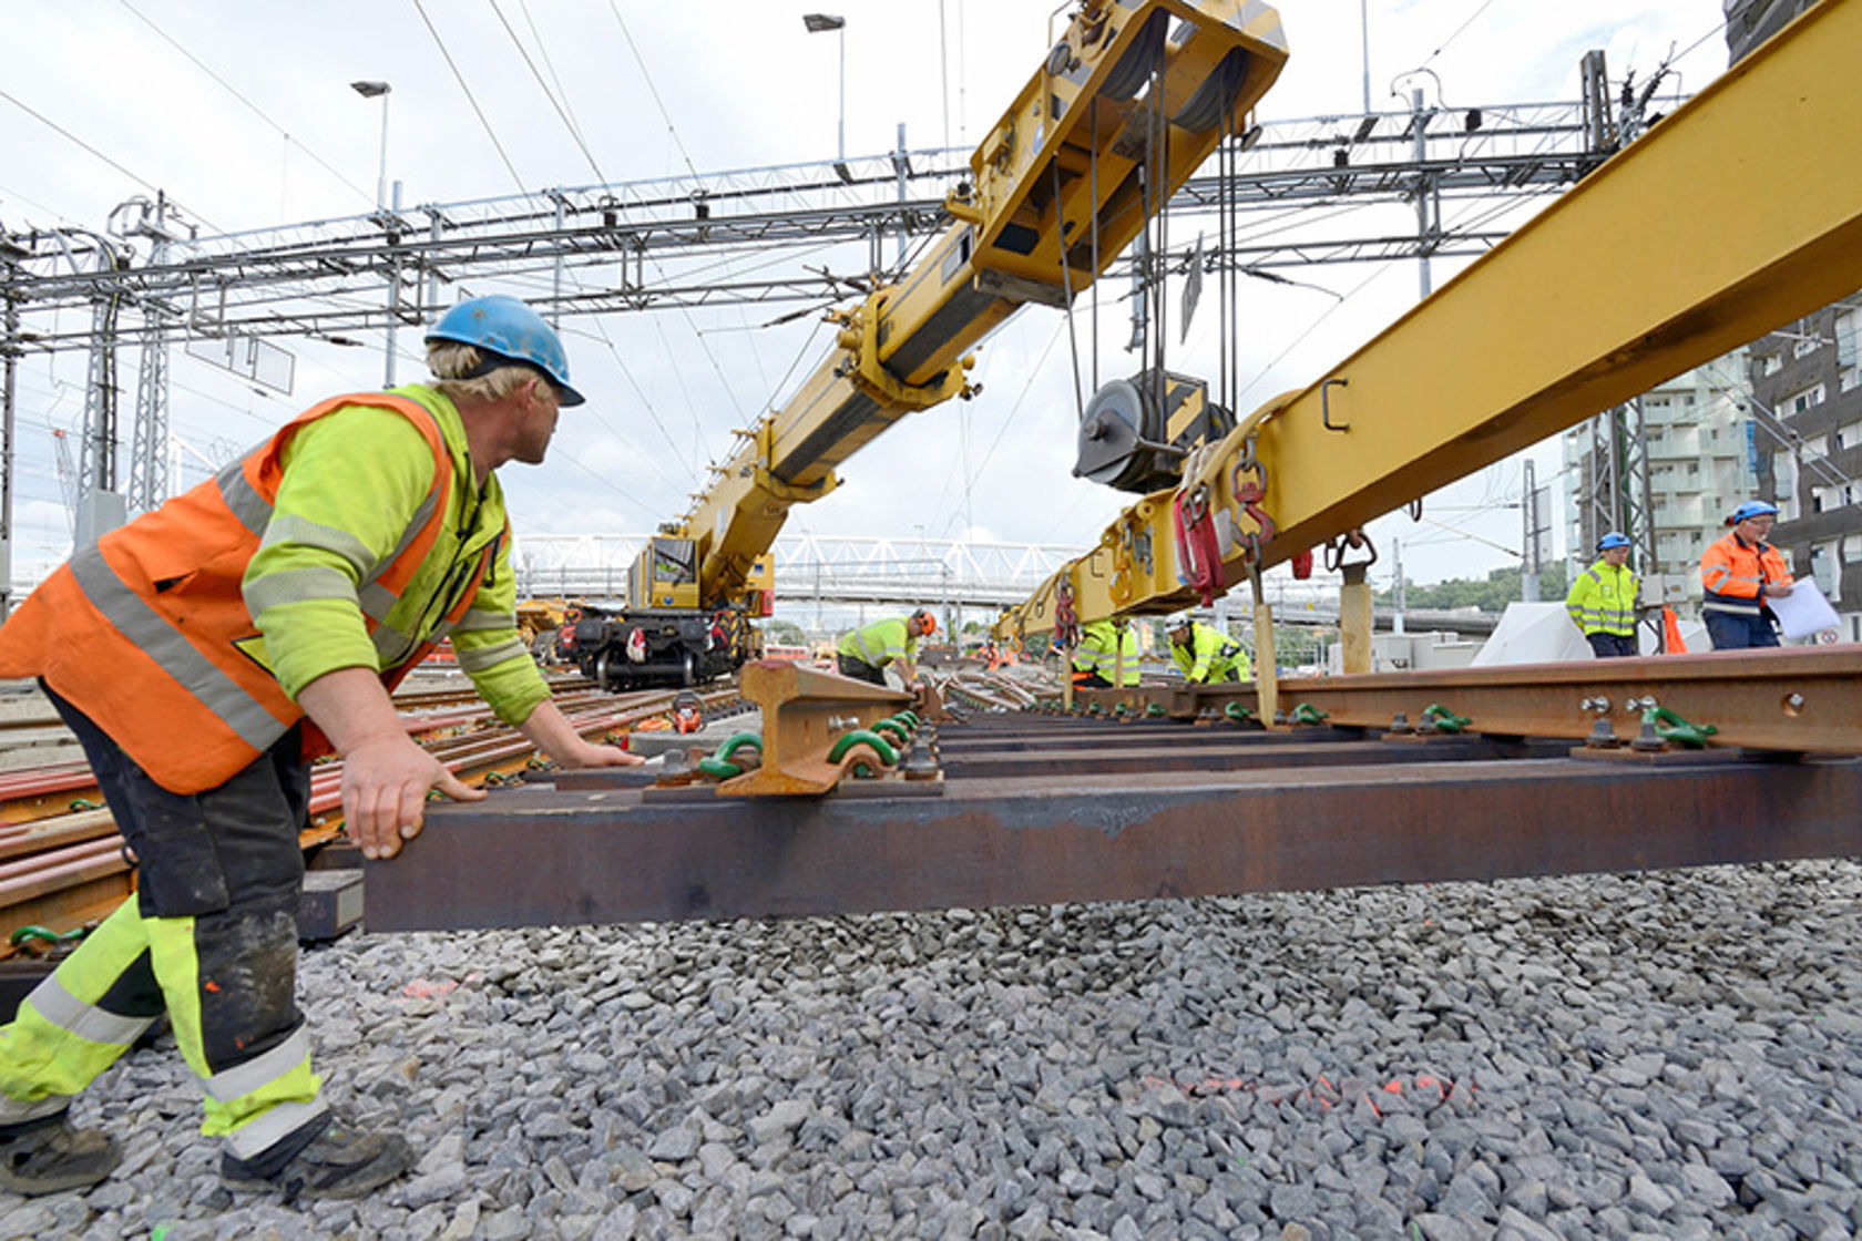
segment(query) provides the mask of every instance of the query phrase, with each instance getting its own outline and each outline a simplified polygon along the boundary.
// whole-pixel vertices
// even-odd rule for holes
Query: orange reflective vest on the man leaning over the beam
[[[231,780],[276,744],[304,711],[259,657],[259,629],[240,592],[283,478],[292,434],[344,406],[410,419],[434,452],[434,482],[395,556],[359,584],[371,633],[387,618],[439,536],[452,458],[434,415],[387,393],[335,396],[272,439],[60,566],[0,627],[0,677],[45,677],[166,789],[199,793]],[[462,597],[404,659],[380,675],[400,681],[471,607],[495,543]],[[305,757],[328,752],[317,729]]]

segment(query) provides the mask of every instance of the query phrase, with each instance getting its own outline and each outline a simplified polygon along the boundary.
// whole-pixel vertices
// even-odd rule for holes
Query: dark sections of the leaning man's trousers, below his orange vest
[[[41,683],[43,685],[43,683]],[[298,902],[311,772],[302,727],[218,789],[169,793],[91,722],[45,690],[84,746],[117,830],[136,860],[136,908],[192,917],[201,1048],[220,1074],[287,1040],[298,1012]],[[177,737],[175,744],[188,744]],[[112,988],[125,1016],[153,1016],[164,995],[142,953]],[[171,1010],[188,997],[168,997]],[[119,1007],[121,1005],[121,1007]],[[179,1029],[177,1029],[179,1033]]]

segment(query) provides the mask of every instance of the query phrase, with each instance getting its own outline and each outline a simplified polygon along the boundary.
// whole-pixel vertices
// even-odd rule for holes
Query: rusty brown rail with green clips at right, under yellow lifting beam
[[[1154,701],[1175,718],[1227,703],[1257,707],[1251,685],[1082,690],[1076,701],[1134,714]],[[1642,733],[1655,705],[1717,729],[1709,746],[1862,754],[1862,646],[1289,677],[1279,703],[1289,714],[1305,705],[1329,726],[1365,729],[1389,729],[1398,714],[1413,729],[1441,707],[1467,720],[1464,731],[1570,741],[1590,739],[1601,720],[1624,744]]]

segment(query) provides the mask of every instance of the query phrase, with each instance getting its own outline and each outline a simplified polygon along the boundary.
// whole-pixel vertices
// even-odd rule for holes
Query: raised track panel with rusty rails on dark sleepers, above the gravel
[[[1082,694],[933,722],[750,664],[696,770],[441,806],[374,930],[797,917],[1862,854],[1862,647]],[[946,698],[1024,688],[951,681]],[[1052,709],[1050,709],[1052,711]],[[724,754],[722,750],[730,750]],[[547,832],[538,830],[547,824]],[[521,884],[486,876],[521,874]]]

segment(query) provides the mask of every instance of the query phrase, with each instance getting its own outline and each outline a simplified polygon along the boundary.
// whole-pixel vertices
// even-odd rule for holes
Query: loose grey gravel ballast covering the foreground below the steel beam
[[[410,1180],[229,1196],[164,1036],[0,1237],[1855,1237],[1858,992],[1853,861],[350,936],[300,995]]]

